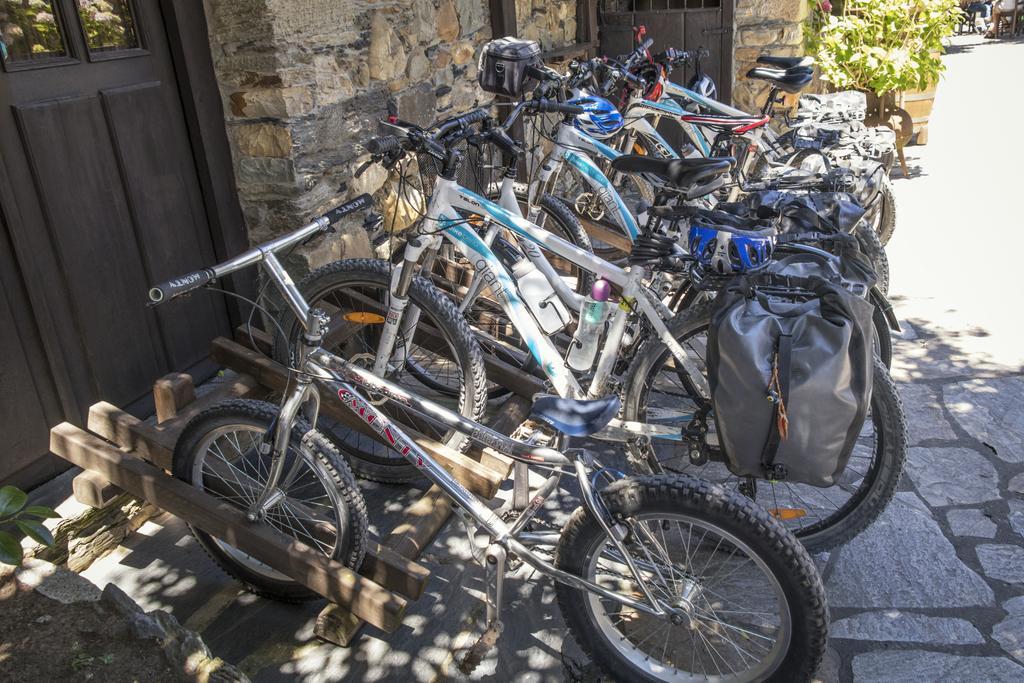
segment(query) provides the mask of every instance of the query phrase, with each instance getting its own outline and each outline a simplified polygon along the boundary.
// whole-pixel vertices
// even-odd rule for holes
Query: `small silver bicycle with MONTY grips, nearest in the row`
[[[486,569],[481,642],[497,640],[506,572],[524,564],[536,575],[554,580],[559,608],[577,641],[616,679],[675,680],[692,674],[809,680],[825,647],[824,590],[807,551],[764,510],[691,477],[623,477],[587,451],[561,453],[514,440],[322,346],[332,332],[331,319],[310,307],[278,254],[323,234],[367,201],[359,198],[291,234],[151,290],[154,303],[165,303],[260,265],[303,331],[280,407],[230,401],[196,416],[175,447],[175,474],[244,509],[252,523],[271,524],[358,567],[367,513],[344,461],[314,428],[317,385],[323,386],[453,501],[474,556]],[[548,475],[526,510],[506,521],[385,415],[380,405],[391,402]],[[539,419],[579,436],[600,430],[617,410],[614,396],[541,396],[534,402]],[[560,531],[532,530],[530,523],[566,475],[574,478],[583,505]],[[193,531],[218,564],[250,588],[287,600],[309,597],[303,587],[227,542]],[[487,539],[482,549],[476,545],[479,535]],[[552,546],[549,561],[542,554]]]

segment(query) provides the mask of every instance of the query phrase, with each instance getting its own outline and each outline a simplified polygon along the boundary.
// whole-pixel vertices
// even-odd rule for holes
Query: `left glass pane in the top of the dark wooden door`
[[[25,63],[67,54],[52,2],[0,0],[0,56],[5,63]]]

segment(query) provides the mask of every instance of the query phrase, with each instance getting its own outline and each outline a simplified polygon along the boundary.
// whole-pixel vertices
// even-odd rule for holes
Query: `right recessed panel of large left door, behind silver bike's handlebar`
[[[180,117],[168,114],[166,96],[160,83],[100,91],[148,284],[216,260],[210,240],[203,239],[206,215],[191,157],[186,148],[167,145],[168,139],[187,137]],[[131,295],[139,302],[145,291]],[[209,340],[224,331],[223,306],[209,294],[155,312],[172,368],[206,357]]]

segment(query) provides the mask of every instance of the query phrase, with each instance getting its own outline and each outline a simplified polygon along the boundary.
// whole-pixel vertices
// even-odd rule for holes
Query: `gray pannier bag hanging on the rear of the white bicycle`
[[[796,265],[719,292],[708,381],[733,474],[830,486],[870,404],[872,306],[830,263],[820,262],[818,274],[808,274],[815,267],[807,259]]]

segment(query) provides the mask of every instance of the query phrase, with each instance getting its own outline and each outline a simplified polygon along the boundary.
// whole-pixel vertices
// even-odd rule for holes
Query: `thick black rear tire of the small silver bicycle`
[[[742,680],[811,679],[824,655],[827,640],[828,607],[824,587],[807,550],[777,520],[750,500],[692,477],[621,479],[601,492],[601,500],[615,519],[686,516],[707,523],[706,528],[720,529],[744,544],[764,562],[781,588],[792,634],[774,668]],[[605,539],[604,529],[593,515],[583,508],[578,509],[562,530],[555,555],[556,566],[575,575],[585,575],[591,558],[604,546]],[[706,580],[706,583],[712,581]],[[622,681],[664,680],[650,671],[641,670],[616,648],[609,637],[612,634],[606,633],[607,628],[602,629],[595,614],[590,593],[562,583],[556,583],[555,593],[562,616],[580,647],[608,676]],[[699,630],[706,626],[695,628]],[[668,645],[668,636],[666,642]]]

